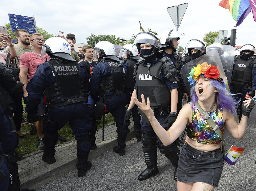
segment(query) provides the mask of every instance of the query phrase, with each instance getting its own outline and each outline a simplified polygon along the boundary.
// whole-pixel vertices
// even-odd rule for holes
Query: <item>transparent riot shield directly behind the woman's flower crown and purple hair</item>
[[[226,84],[226,90],[228,92],[230,92],[229,90],[229,84],[227,81],[227,78],[225,76],[225,72],[221,63],[221,58],[219,56],[219,53],[217,50],[209,50],[209,52],[207,52],[205,55],[185,64],[182,68],[181,68],[181,75],[182,75],[182,79],[185,83],[185,86],[187,88],[187,90],[190,92],[190,89],[194,86],[191,86],[188,80],[188,77],[190,76],[190,72],[191,69],[195,66],[197,66],[198,64],[202,64],[203,62],[207,62],[208,64],[217,66],[217,69],[220,72],[219,77],[223,79],[224,83]],[[235,113],[234,115],[234,119],[238,124],[238,116],[237,113]],[[227,137],[229,137],[229,133],[227,132],[227,130],[224,128],[224,135],[223,135],[223,139],[226,139]]]

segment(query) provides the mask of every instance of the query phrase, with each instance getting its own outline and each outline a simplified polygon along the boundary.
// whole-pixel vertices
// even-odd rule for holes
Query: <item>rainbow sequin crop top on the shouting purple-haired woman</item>
[[[194,103],[190,102],[193,110],[192,121],[187,124],[187,136],[195,142],[204,144],[217,144],[221,142],[219,135],[214,132],[213,128],[202,118],[202,113],[197,109]],[[209,117],[219,125],[221,132],[224,132],[223,111],[217,108],[209,113]]]

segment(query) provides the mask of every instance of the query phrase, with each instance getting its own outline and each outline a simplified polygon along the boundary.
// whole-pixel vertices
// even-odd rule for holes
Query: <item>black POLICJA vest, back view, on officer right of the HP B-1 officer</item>
[[[125,75],[123,65],[120,62],[110,59],[103,60],[102,62],[107,63],[107,66],[110,67],[111,76],[102,80],[101,95],[104,99],[106,99],[108,97],[107,94],[110,91],[115,91],[115,94],[111,95],[110,97],[123,94],[123,89],[125,88]]]

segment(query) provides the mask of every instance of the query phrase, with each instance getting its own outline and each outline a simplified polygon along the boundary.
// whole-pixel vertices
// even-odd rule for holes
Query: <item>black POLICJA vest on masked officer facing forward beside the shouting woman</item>
[[[147,99],[147,97],[149,97],[151,108],[167,107],[171,98],[170,91],[168,90],[166,83],[159,79],[160,72],[164,63],[159,61],[155,65],[151,66],[151,75],[149,75],[148,68],[140,64],[142,62],[139,62],[136,65],[138,69],[136,69],[135,73],[136,93],[138,100],[141,102],[141,94],[143,94],[145,100]]]

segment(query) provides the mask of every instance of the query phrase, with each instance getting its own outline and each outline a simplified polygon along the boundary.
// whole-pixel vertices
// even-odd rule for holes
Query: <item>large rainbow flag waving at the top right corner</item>
[[[237,22],[235,27],[239,26],[243,19],[253,11],[253,18],[256,22],[256,0],[222,0],[219,6],[229,9],[233,19]]]

